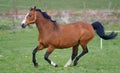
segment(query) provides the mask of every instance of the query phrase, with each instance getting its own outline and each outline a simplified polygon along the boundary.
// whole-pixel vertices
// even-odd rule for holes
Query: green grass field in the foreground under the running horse
[[[54,68],[44,59],[46,51],[37,53],[38,68],[34,68],[31,56],[32,50],[38,44],[37,29],[0,30],[0,72],[1,73],[119,73],[119,40],[103,41],[103,49],[99,47],[99,37],[89,43],[89,53],[79,61],[78,66],[64,68],[71,55],[71,49],[56,49],[50,59],[59,67]],[[79,47],[79,53],[82,51]]]

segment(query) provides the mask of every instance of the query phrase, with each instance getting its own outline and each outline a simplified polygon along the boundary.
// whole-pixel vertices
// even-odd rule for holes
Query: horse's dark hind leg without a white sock
[[[83,51],[82,51],[82,53],[81,53],[79,56],[77,56],[76,59],[74,60],[74,66],[76,66],[76,65],[78,64],[78,60],[79,60],[82,56],[84,56],[86,53],[88,53],[87,45],[81,44],[81,46],[82,46]]]

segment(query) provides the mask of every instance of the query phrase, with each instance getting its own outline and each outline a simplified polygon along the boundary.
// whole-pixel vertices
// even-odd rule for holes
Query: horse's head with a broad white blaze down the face
[[[25,28],[29,24],[33,24],[36,22],[36,6],[31,8],[29,12],[26,14],[24,20],[22,21],[22,28]]]

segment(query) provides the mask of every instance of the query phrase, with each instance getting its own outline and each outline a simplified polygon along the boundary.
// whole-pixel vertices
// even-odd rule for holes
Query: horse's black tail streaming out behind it
[[[92,26],[94,30],[96,31],[96,33],[104,40],[113,39],[117,36],[117,33],[115,32],[112,32],[111,34],[106,35],[104,31],[104,27],[102,26],[100,22],[94,22],[92,23]]]

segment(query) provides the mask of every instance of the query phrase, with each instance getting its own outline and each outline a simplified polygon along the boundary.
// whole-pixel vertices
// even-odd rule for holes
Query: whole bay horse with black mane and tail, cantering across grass
[[[87,44],[94,37],[94,32],[104,40],[113,39],[117,36],[117,33],[112,32],[106,35],[104,27],[100,22],[94,22],[88,24],[86,22],[74,22],[65,25],[60,25],[46,13],[42,12],[36,7],[31,8],[22,21],[22,28],[25,28],[29,24],[36,24],[39,31],[38,41],[39,45],[32,52],[32,61],[35,67],[38,66],[36,62],[36,53],[38,50],[47,48],[44,55],[44,59],[54,67],[58,65],[51,61],[48,57],[56,49],[72,48],[72,56],[65,64],[64,67],[68,67],[72,61],[74,66],[78,64],[78,60],[88,53]],[[81,45],[83,51],[78,55],[78,46]]]

